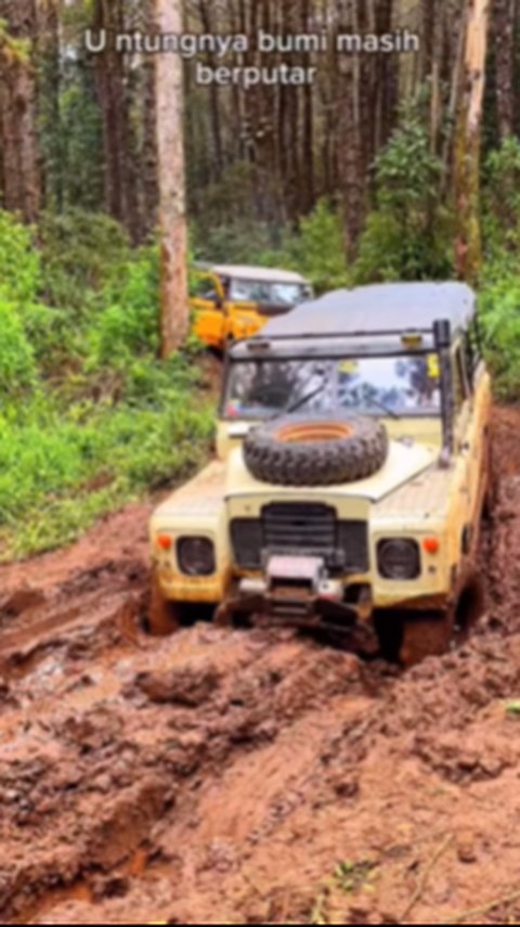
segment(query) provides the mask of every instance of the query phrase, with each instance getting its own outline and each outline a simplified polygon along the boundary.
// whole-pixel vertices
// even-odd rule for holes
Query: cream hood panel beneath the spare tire
[[[304,492],[308,499],[322,499],[324,494],[341,498],[364,499],[366,502],[380,502],[414,477],[424,473],[439,460],[439,448],[414,443],[407,446],[401,441],[390,441],[389,454],[385,465],[368,479],[358,482],[344,482],[327,487],[290,487],[260,482],[247,469],[242,447],[230,454],[225,486],[226,500],[244,497],[283,495],[301,499]]]

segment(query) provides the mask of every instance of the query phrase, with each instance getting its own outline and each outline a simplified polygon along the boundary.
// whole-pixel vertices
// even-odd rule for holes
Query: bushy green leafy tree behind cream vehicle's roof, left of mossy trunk
[[[453,230],[439,196],[443,166],[414,111],[379,155],[376,209],[354,268],[356,283],[446,279],[453,274]]]

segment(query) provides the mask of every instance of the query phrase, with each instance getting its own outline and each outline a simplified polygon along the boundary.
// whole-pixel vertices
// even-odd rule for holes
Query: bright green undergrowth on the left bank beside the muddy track
[[[184,478],[214,422],[193,346],[156,360],[157,249],[131,252],[117,224],[77,210],[44,217],[39,241],[0,213],[4,558],[66,543]]]

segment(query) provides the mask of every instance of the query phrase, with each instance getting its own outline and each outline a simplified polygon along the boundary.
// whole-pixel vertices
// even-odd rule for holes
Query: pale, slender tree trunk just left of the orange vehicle
[[[161,33],[182,33],[181,0],[156,0]],[[170,357],[184,342],[187,302],[187,229],[184,158],[183,64],[178,55],[156,56],[157,153],[160,213],[160,353]]]

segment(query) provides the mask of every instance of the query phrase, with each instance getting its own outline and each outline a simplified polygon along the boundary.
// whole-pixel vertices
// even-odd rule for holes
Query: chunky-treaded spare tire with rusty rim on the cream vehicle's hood
[[[252,428],[244,442],[249,473],[276,486],[355,482],[387,456],[387,430],[373,419],[280,417]]]

